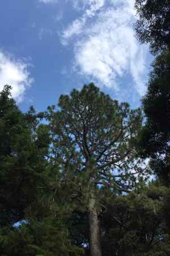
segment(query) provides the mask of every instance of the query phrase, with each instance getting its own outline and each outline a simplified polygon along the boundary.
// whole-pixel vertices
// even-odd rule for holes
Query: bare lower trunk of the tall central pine
[[[88,205],[90,225],[90,252],[91,256],[102,256],[100,247],[99,221],[95,208],[95,198],[91,197]]]

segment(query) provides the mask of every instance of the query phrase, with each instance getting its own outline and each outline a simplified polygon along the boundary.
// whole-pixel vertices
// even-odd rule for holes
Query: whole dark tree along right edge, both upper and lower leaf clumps
[[[135,9],[139,15],[137,38],[149,43],[153,53],[160,53],[152,64],[142,99],[146,123],[139,140],[140,152],[151,158],[151,168],[169,185],[170,1],[136,0]]]

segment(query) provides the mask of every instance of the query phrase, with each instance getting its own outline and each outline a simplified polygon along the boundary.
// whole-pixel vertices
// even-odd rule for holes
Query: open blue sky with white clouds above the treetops
[[[135,39],[134,0],[1,0],[0,90],[37,112],[94,82],[141,104],[152,56]]]

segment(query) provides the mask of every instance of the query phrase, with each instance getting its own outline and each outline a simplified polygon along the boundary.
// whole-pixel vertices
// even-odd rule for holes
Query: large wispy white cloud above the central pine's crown
[[[63,30],[61,43],[73,44],[74,68],[98,84],[119,89],[130,74],[137,92],[145,93],[147,48],[134,38],[134,0],[76,0],[83,15]]]

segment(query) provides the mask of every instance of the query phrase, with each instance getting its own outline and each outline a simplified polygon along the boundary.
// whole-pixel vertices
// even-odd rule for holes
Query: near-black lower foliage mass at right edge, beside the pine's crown
[[[163,52],[152,64],[148,89],[143,97],[146,123],[140,139],[141,154],[151,156],[151,167],[169,183],[170,54]]]

